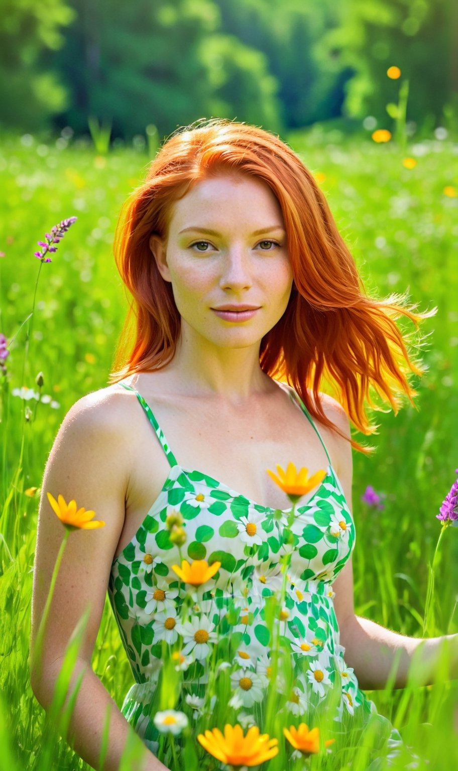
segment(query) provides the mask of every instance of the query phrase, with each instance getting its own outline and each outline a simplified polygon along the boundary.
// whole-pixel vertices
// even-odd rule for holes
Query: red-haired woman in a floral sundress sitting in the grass
[[[215,597],[221,596],[240,611],[232,631],[240,633],[242,653],[250,659],[244,688],[258,682],[262,690],[269,657],[263,631],[269,593],[263,589],[278,588],[279,560],[292,544],[293,612],[281,617],[281,634],[291,645],[295,670],[308,672],[296,704],[305,709],[308,699],[319,701],[339,671],[342,682],[348,681],[338,715],[369,715],[373,705],[359,684],[383,687],[395,662],[396,685],[405,684],[420,641],[358,618],[353,610],[356,443],[349,419],[370,433],[369,389],[394,409],[402,394],[412,398],[407,373],[420,370],[394,319],[402,314],[417,322],[419,315],[365,296],[312,174],[277,137],[241,123],[212,120],[165,143],[124,207],[115,256],[133,297],[118,369],[111,385],[70,409],[42,484],[55,498],[62,494],[95,510],[106,525],[69,540],[41,675],[32,672],[35,695],[49,705],[66,643],[89,604],[75,671],[75,678],[83,677],[71,726],[76,751],[99,767],[110,705],[103,768],[119,768],[133,734],[129,724],[144,740],[136,767],[166,768],[163,757],[155,757],[158,732],[150,713],[161,642],[180,639],[177,630],[187,640],[172,567],[180,563],[180,541],[170,540],[167,520],[178,512],[185,556],[219,563],[205,584],[207,593],[195,598],[202,634],[187,642],[195,678],[207,682],[210,659],[197,648],[207,641],[212,647],[226,607],[221,601],[216,608]],[[323,382],[336,399],[320,392]],[[301,497],[292,537],[268,540],[290,512],[291,500],[266,470],[290,462],[319,473],[322,483]],[[317,516],[320,511],[324,518]],[[307,540],[306,533],[313,537]],[[32,641],[61,540],[42,496]],[[122,712],[90,667],[107,588],[136,679]],[[315,635],[311,608],[320,609]],[[429,640],[423,648],[425,682],[440,642]],[[237,674],[231,682],[235,693]],[[183,694],[177,709],[184,703]],[[390,731],[391,726],[386,744],[394,747],[399,734]]]

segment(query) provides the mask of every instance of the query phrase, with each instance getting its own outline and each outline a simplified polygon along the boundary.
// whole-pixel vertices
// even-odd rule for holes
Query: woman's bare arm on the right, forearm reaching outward
[[[342,406],[327,396],[322,403],[328,418],[342,433],[349,436],[349,419]],[[338,473],[351,509],[351,445],[334,432],[327,433],[326,439],[332,453],[332,465]],[[447,677],[458,678],[458,635],[429,639],[406,637],[369,618],[355,615],[351,559],[335,579],[333,588],[340,642],[345,647],[345,662],[354,668],[363,689],[384,688],[394,672],[395,688],[403,688],[408,680],[415,685],[429,685],[436,680],[439,670],[443,676],[444,658],[447,662]],[[377,591],[376,587],[374,591]]]

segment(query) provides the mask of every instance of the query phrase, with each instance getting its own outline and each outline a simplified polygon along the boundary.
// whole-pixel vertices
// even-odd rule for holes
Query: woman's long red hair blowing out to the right
[[[417,328],[430,314],[415,312],[402,296],[378,300],[365,294],[312,173],[278,136],[245,123],[216,119],[174,133],[150,164],[143,185],[126,200],[114,254],[133,301],[109,382],[161,369],[173,359],[180,314],[170,282],[157,270],[150,235],[167,238],[173,202],[224,170],[264,180],[285,221],[293,291],[284,315],[261,340],[261,369],[292,385],[325,426],[335,427],[318,397],[323,385],[360,431],[375,432],[365,409],[366,404],[377,409],[374,393],[397,412],[400,396],[411,402],[415,396],[409,373],[423,372],[409,357],[396,319],[405,316]]]

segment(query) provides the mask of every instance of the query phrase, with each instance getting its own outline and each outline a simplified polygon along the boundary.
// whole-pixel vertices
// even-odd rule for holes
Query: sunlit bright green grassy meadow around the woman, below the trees
[[[367,291],[408,290],[420,310],[437,308],[423,322],[416,351],[427,366],[416,379],[416,405],[396,416],[374,412],[378,433],[365,438],[374,452],[354,457],[355,610],[419,637],[440,530],[436,513],[458,467],[458,143],[439,131],[414,135],[401,150],[373,142],[368,132],[345,136],[325,126],[288,140],[325,191]],[[0,333],[10,349],[6,374],[0,372],[0,756],[12,771],[89,768],[53,733],[29,685],[39,491],[32,493],[70,406],[106,386],[127,308],[113,232],[147,163],[140,141],[98,154],[65,130],[57,140],[5,136],[0,145]],[[36,242],[71,216],[78,219],[52,262],[40,264]],[[361,500],[368,485],[382,495],[382,508]],[[450,528],[436,567],[436,635],[458,631],[457,564]],[[133,678],[108,604],[93,668],[121,705]],[[456,682],[369,695],[429,760],[425,768],[448,771],[458,762]],[[364,768],[330,758],[312,768]]]

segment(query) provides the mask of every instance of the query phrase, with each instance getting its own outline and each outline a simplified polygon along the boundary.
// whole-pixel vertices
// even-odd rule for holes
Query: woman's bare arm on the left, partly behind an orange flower
[[[102,682],[93,672],[91,658],[102,618],[109,572],[123,529],[125,494],[129,481],[129,426],[122,395],[96,392],[79,399],[69,410],[45,466],[39,505],[32,598],[32,689],[49,709],[62,666],[66,645],[86,608],[89,621],[69,686],[83,675],[66,737],[86,763],[103,771],[118,771],[126,742],[136,745],[141,759],[135,771],[167,771],[153,756],[121,714]],[[123,408],[126,401],[122,402]],[[39,624],[49,593],[52,571],[64,535],[46,493],[61,494],[67,503],[96,512],[105,521],[96,530],[75,530],[62,557],[52,595],[41,652],[35,658]],[[103,766],[100,754],[106,715],[109,739]]]

